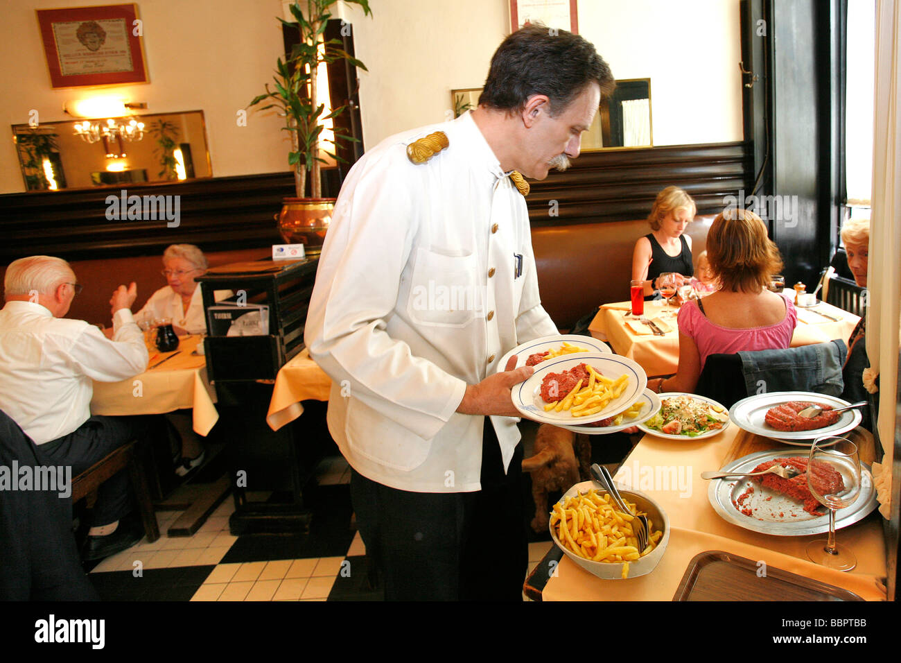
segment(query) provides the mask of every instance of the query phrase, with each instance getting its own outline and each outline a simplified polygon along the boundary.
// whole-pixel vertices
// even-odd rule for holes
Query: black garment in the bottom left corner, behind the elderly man
[[[0,465],[47,465],[13,421],[0,412]],[[71,497],[59,491],[0,490],[0,600],[96,600],[72,533]]]

